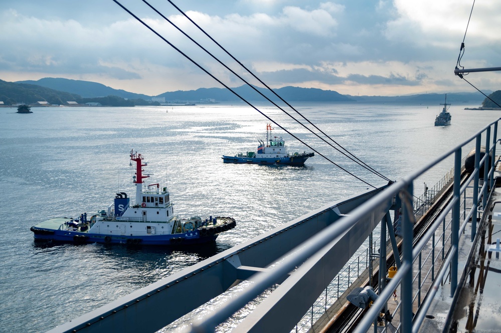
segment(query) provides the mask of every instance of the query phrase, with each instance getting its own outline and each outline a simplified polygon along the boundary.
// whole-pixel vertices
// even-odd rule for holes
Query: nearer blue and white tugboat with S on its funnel
[[[135,202],[125,192],[117,193],[107,209],[88,218],[87,213],[76,218],[52,218],[41,222],[31,231],[35,239],[71,243],[121,243],[144,245],[191,245],[214,241],[224,231],[235,227],[231,217],[202,219],[179,218],[166,187],[150,184],[143,187],[143,156],[130,152],[136,173],[132,182],[136,187]]]

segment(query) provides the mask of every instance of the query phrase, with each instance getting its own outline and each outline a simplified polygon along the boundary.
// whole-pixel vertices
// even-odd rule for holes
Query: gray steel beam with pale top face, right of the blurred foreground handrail
[[[290,332],[386,215],[391,203],[359,220],[316,252],[264,299],[233,332]]]

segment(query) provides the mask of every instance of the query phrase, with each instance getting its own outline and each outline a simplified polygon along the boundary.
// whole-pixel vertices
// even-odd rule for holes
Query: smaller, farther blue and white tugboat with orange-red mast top
[[[254,163],[254,164],[284,164],[284,165],[304,165],[308,157],[314,153],[294,153],[289,154],[285,149],[285,141],[282,137],[271,135],[271,125],[266,125],[266,143],[259,140],[256,152],[239,153],[235,156],[223,155],[224,163]]]

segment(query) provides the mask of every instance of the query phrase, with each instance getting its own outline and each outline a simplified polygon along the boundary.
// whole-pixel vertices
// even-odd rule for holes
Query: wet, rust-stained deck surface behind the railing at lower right
[[[425,320],[422,332],[441,328],[446,319],[450,320],[454,331],[501,331],[501,261],[499,251],[495,250],[496,240],[501,238],[500,200],[501,188],[496,187],[487,209],[486,223],[478,230],[473,250],[469,251],[471,245],[468,245],[470,241],[467,237],[459,244],[459,266],[466,266],[466,270],[458,272],[463,273],[465,278],[457,301],[442,297],[450,294],[449,284],[444,284],[428,311],[428,315],[435,318]],[[465,233],[468,234],[468,230]],[[472,253],[471,257],[469,253]]]

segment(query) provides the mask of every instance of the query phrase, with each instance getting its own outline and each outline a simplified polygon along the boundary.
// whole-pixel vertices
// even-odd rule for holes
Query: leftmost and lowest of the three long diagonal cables
[[[329,161],[330,163],[332,163],[333,165],[336,165],[338,168],[340,168],[341,170],[345,171],[346,173],[348,173],[349,175],[355,177],[356,179],[360,180],[361,182],[363,182],[364,184],[366,185],[369,185],[375,189],[377,189],[376,186],[368,183],[367,181],[363,180],[362,178],[358,177],[357,175],[353,174],[352,172],[348,171],[346,168],[343,168],[341,165],[337,164],[336,162],[330,160],[328,157],[324,156],[323,154],[321,154],[320,152],[318,152],[317,150],[313,149],[311,146],[309,146],[307,143],[305,143],[303,140],[299,139],[297,136],[295,136],[294,134],[292,134],[290,131],[286,130],[285,128],[283,128],[280,124],[278,124],[277,122],[275,122],[273,119],[271,119],[270,117],[268,117],[266,114],[264,114],[261,110],[259,110],[258,108],[256,108],[254,105],[252,105],[249,101],[247,101],[245,98],[243,98],[242,96],[240,96],[236,91],[234,91],[233,89],[231,89],[228,85],[226,85],[225,83],[223,83],[221,80],[219,80],[218,78],[216,78],[212,73],[210,73],[208,70],[206,70],[204,67],[202,67],[200,64],[198,64],[195,60],[193,60],[191,57],[189,57],[187,54],[185,54],[183,51],[181,51],[179,48],[177,48],[174,44],[172,44],[171,42],[169,42],[168,40],[166,40],[163,36],[161,36],[158,32],[156,32],[153,28],[151,28],[148,24],[146,24],[144,21],[142,21],[141,19],[139,19],[139,17],[137,17],[135,14],[133,14],[131,11],[129,11],[125,6],[123,6],[120,2],[118,2],[118,0],[112,0],[114,3],[116,3],[120,8],[122,8],[125,12],[127,12],[130,16],[132,16],[134,19],[136,19],[139,23],[141,23],[143,26],[145,26],[146,28],[148,28],[152,33],[154,33],[156,36],[158,36],[161,40],[163,40],[165,43],[169,44],[173,49],[175,49],[177,52],[179,52],[181,55],[183,55],[186,59],[188,59],[190,62],[192,62],[195,66],[197,66],[198,68],[200,68],[202,71],[204,71],[207,75],[209,75],[210,77],[212,77],[214,80],[216,80],[219,84],[221,84],[223,87],[225,87],[226,89],[228,89],[229,91],[231,91],[235,96],[237,96],[238,98],[240,98],[242,101],[244,101],[247,105],[249,105],[250,107],[252,107],[254,110],[256,110],[257,112],[259,112],[261,115],[263,115],[265,118],[267,118],[269,121],[271,121],[273,124],[275,124],[276,126],[278,126],[279,128],[281,128],[283,131],[285,131],[287,134],[289,134],[290,136],[292,136],[293,138],[295,138],[296,140],[298,140],[299,142],[301,142],[303,145],[305,145],[306,147],[308,147],[309,149],[313,150],[315,153],[317,153],[318,155],[322,156],[324,159],[326,159],[327,161]]]

